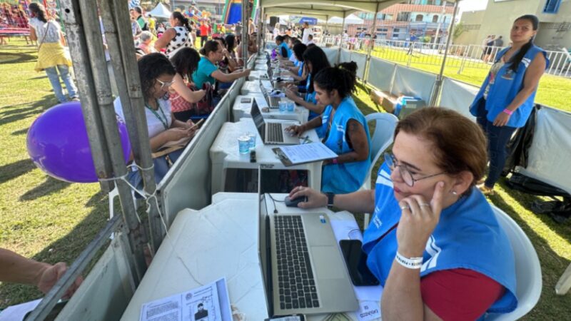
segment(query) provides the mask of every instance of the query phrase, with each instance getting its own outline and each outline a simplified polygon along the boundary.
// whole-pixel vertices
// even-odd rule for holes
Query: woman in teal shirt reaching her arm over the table
[[[241,77],[250,76],[250,69],[234,71],[233,73],[223,73],[216,64],[224,58],[226,49],[214,40],[206,41],[206,44],[199,51],[202,55],[198,62],[198,68],[194,71],[192,78],[197,88],[203,88],[203,84],[208,82],[214,85],[216,81],[229,83]]]

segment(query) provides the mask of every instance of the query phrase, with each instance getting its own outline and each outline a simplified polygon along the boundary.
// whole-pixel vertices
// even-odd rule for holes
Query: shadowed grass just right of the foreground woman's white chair
[[[533,227],[520,216],[517,211],[507,204],[500,196],[494,195],[490,198],[497,208],[502,209],[509,215],[517,225],[525,232],[527,238],[530,238],[537,256],[540,258],[541,275],[542,275],[542,292],[540,300],[529,314],[525,316],[525,320],[559,320],[561,315],[570,315],[571,313],[571,296],[561,296],[555,294],[555,284],[559,280],[560,275],[570,261],[562,258],[551,250],[550,244],[542,236],[535,233]]]

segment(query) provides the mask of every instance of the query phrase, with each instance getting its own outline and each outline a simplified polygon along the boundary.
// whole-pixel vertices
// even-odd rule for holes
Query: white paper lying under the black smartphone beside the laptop
[[[335,240],[360,240],[363,242],[363,235],[355,220],[331,220],[331,228]],[[380,297],[383,295],[383,287],[355,287],[355,296],[359,301],[359,311],[355,311],[360,321],[369,321],[380,318]]]

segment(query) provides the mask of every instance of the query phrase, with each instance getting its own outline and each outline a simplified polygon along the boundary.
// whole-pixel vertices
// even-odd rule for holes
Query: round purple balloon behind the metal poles
[[[128,161],[131,143],[127,126],[117,118],[123,157]],[[48,175],[72,183],[98,181],[81,103],[60,103],[31,124],[26,138],[32,161]]]

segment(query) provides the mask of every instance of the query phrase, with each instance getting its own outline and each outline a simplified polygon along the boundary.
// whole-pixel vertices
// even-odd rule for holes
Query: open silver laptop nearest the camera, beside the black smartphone
[[[328,215],[274,214],[271,210],[268,215],[266,200],[270,207],[273,202],[270,195],[258,196],[259,251],[271,315],[358,310]]]

